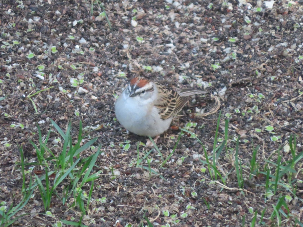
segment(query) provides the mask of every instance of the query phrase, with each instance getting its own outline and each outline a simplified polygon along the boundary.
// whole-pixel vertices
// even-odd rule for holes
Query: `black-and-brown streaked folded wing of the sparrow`
[[[159,96],[155,106],[160,109],[161,119],[168,119],[178,114],[188,101],[188,98],[181,97],[170,88],[158,86],[158,90]]]

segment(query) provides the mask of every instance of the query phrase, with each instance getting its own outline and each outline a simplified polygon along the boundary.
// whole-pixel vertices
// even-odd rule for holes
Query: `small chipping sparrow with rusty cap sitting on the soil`
[[[185,96],[206,93],[191,88],[175,92],[143,77],[132,78],[115,103],[117,120],[137,135],[158,136],[188,102]]]

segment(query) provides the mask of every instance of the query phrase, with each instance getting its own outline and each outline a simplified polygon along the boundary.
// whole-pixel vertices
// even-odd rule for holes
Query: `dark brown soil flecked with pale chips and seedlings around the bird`
[[[83,157],[94,154],[99,145],[103,151],[96,163],[103,175],[94,182],[92,202],[82,220],[85,225],[141,226],[145,215],[154,226],[250,226],[255,211],[258,223],[265,209],[264,226],[276,226],[277,218],[271,219],[272,205],[282,195],[291,196],[292,201],[287,202],[291,216],[282,215],[280,225],[302,222],[302,184],[294,181],[296,196],[279,185],[277,194],[266,198],[266,175],[249,178],[249,172],[253,149],[258,145],[259,171],[270,168],[272,175],[276,166],[266,160],[275,163],[279,148],[282,161],[291,159],[285,146],[290,135],[296,135],[296,152],[302,152],[303,5],[275,1],[273,8],[268,8],[261,1],[240,2],[108,1],[104,7],[109,24],[99,16],[103,10],[98,4],[93,4],[91,15],[91,1],[3,0],[0,97],[6,98],[0,101],[0,202],[10,206],[21,201],[19,147],[23,147],[25,163],[36,162],[29,140],[38,144],[37,124],[46,135],[53,119],[62,130],[72,122],[75,141],[80,121],[85,132],[102,125],[83,141],[98,138],[96,148],[84,151]],[[52,46],[57,52],[54,48],[51,51]],[[151,70],[144,66],[151,66]],[[114,103],[129,79],[138,75],[176,90],[193,87],[209,92],[193,97],[173,125],[178,129],[188,122],[197,123],[188,129],[211,157],[219,111],[204,117],[195,113],[211,112],[218,105],[212,95],[218,97],[218,137],[222,140],[224,119],[229,119],[228,149],[223,149],[217,160],[217,168],[226,179],[225,188],[218,182],[210,184],[207,165],[201,162],[205,161],[202,146],[186,135],[181,136],[163,168],[158,152],[150,154],[151,168],[165,180],[135,167],[137,142],[145,143],[148,138],[128,134],[122,128],[115,120]],[[31,97],[35,112],[28,95],[45,88],[50,89]],[[273,131],[266,126],[272,126]],[[180,129],[169,129],[158,140],[164,159],[179,133]],[[246,191],[238,189],[235,171],[234,140],[238,135]],[[58,154],[62,145],[53,146],[56,138],[60,135],[54,130],[49,147]],[[123,150],[120,144],[127,140],[130,148]],[[139,146],[142,157],[148,150]],[[147,162],[143,165],[148,167]],[[34,169],[44,170],[39,165]],[[117,171],[115,179],[112,169]],[[303,179],[301,160],[294,169],[292,178]],[[27,184],[30,175],[34,176],[32,169],[27,172]],[[288,182],[286,175],[283,180]],[[90,185],[83,189],[88,193]],[[106,202],[98,200],[102,197]],[[68,207],[72,201],[62,205],[54,195],[52,202],[54,216],[47,216],[37,188],[19,212],[28,214],[13,225],[55,226],[60,219],[79,221],[79,209]],[[163,213],[166,210],[168,217]],[[182,218],[184,213],[187,217]]]

